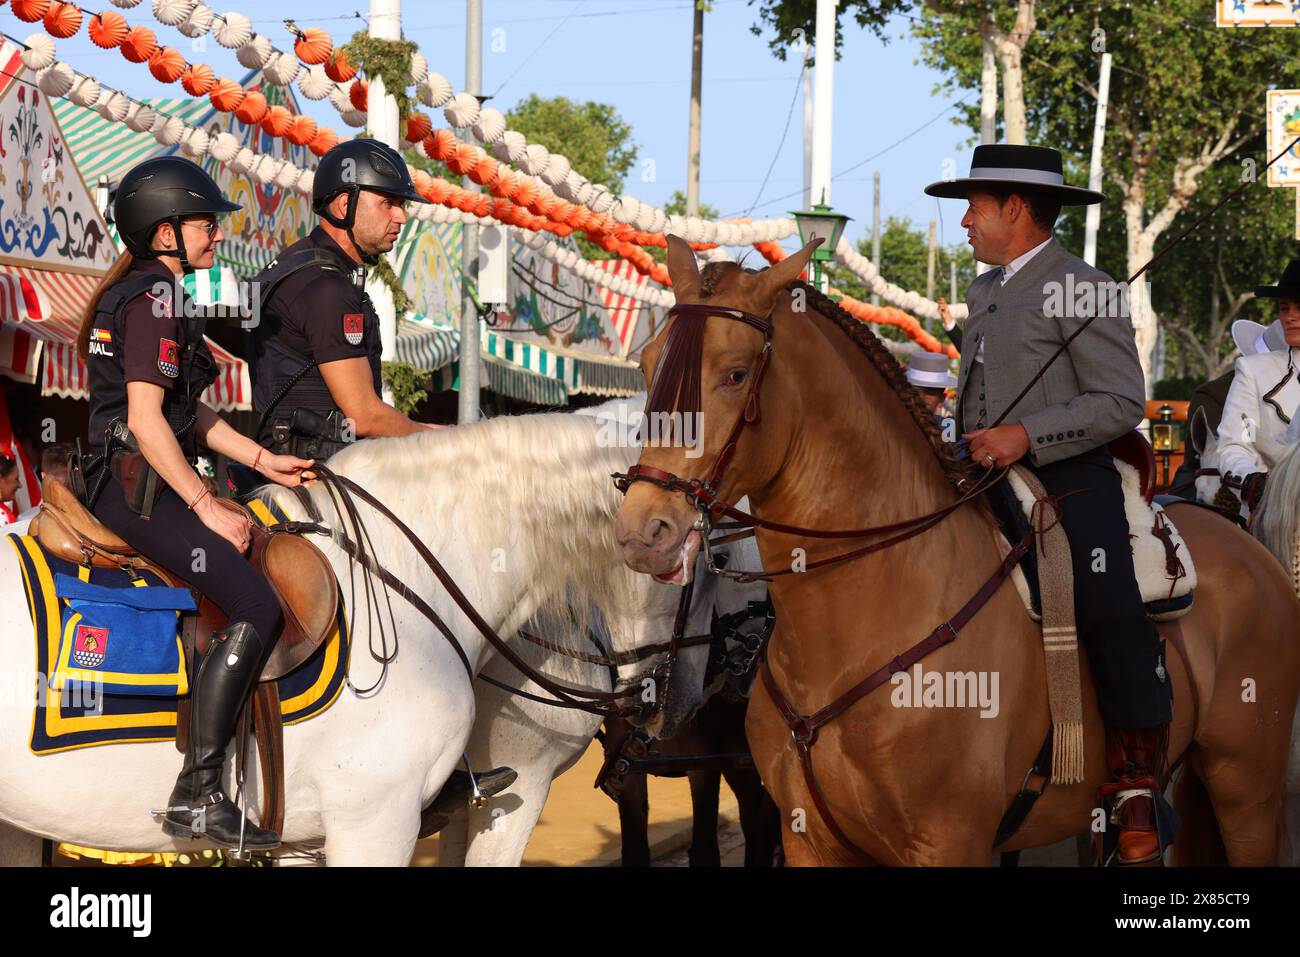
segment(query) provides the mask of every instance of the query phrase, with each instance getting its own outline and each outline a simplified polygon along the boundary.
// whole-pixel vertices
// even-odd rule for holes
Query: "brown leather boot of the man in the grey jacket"
[[[1161,865],[1156,831],[1156,794],[1164,787],[1169,726],[1115,728],[1106,726],[1106,765],[1112,780],[1097,791],[1119,828],[1113,863]]]

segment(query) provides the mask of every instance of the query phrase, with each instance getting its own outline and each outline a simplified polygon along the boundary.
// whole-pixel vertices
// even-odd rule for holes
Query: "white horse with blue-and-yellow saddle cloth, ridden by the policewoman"
[[[438,555],[488,623],[511,633],[541,610],[594,603],[614,648],[646,620],[614,540],[619,494],[610,473],[634,447],[593,441],[594,423],[569,415],[503,417],[400,439],[372,439],[330,460],[385,502]],[[326,521],[339,524],[326,492],[312,490]],[[306,515],[276,493],[291,518]],[[382,564],[416,590],[455,632],[476,668],[486,642],[437,584],[400,533],[359,503]],[[351,531],[351,529],[348,529]],[[329,538],[315,537],[350,594],[360,575]],[[360,589],[358,590],[360,594]],[[0,549],[0,674],[34,675],[31,622],[17,557]],[[420,809],[465,752],[476,692],[451,646],[415,609],[391,596],[387,645],[377,609],[350,607],[350,684],[324,714],[285,728],[283,840],[321,846],[330,865],[406,865]],[[396,636],[394,645],[394,636]],[[381,659],[389,658],[382,664]],[[653,666],[654,662],[647,662]],[[372,688],[368,693],[356,689]],[[159,807],[181,766],[170,742],[104,745],[49,755],[27,746],[31,701],[0,707],[0,822],[9,828],[109,850],[194,850],[165,836]],[[229,767],[233,763],[228,761]],[[250,805],[259,804],[251,762]],[[87,813],[92,807],[94,813]],[[0,827],[0,831],[4,831]],[[34,862],[39,841],[0,836],[0,862]]]

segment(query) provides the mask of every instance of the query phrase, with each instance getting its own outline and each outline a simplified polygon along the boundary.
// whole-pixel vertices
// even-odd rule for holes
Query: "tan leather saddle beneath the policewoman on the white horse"
[[[160,568],[122,541],[57,478],[47,477],[40,490],[40,514],[32,520],[29,533],[53,555],[96,568],[121,568],[136,573],[148,570],[173,588],[186,586],[176,575]],[[251,520],[248,510],[238,502],[226,498],[214,501]],[[256,523],[251,524],[248,560],[270,583],[285,616],[285,627],[248,702],[265,785],[260,823],[263,827],[278,831],[283,823],[285,774],[280,692],[276,680],[306,662],[332,632],[338,614],[338,583],[325,555],[309,541],[286,532],[266,531]],[[199,612],[187,615],[182,628],[182,645],[191,674],[195,671],[198,658],[212,641],[212,635],[225,628],[228,623],[225,612],[216,605],[198,593],[196,597]],[[188,715],[190,700],[183,697],[179,700],[176,723],[176,746],[182,754],[188,744]]]

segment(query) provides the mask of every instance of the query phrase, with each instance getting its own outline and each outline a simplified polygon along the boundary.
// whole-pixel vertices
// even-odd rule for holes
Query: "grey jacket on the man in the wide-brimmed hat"
[[[1005,286],[1001,274],[989,270],[966,291],[970,317],[962,335],[958,416],[982,341],[985,419],[992,424],[1066,337],[1100,309],[1004,424],[1024,426],[1036,465],[1080,455],[1135,429],[1145,415],[1145,387],[1132,322],[1122,300],[1110,295],[1117,283],[1056,239]],[[1088,287],[1093,306],[1079,300]],[[975,425],[959,424],[962,432]]]

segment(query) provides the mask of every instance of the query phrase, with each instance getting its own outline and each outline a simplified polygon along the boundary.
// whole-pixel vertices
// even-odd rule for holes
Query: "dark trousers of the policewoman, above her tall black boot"
[[[140,554],[198,588],[231,622],[248,622],[269,653],[282,623],[276,593],[248,559],[204,525],[170,488],[162,490],[144,521],[126,506],[118,481],[109,477],[95,502],[95,518]]]

